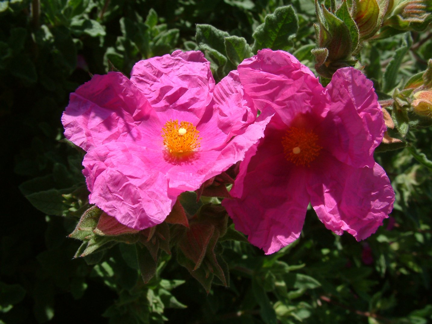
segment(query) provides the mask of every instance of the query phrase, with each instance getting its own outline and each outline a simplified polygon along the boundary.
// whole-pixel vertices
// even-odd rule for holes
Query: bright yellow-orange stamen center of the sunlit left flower
[[[192,152],[200,147],[199,131],[188,121],[181,121],[180,124],[176,119],[170,119],[161,130],[163,144],[174,155]]]

